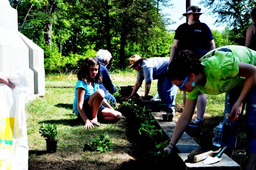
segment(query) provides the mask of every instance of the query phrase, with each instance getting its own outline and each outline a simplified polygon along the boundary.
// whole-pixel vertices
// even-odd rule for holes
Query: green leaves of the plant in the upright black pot
[[[48,141],[57,140],[58,130],[56,124],[40,124],[39,133]]]

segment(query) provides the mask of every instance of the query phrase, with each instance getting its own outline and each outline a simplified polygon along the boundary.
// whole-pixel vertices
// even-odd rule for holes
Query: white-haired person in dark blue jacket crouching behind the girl
[[[113,82],[110,79],[110,74],[106,68],[111,58],[112,55],[107,50],[100,49],[96,54],[96,59],[101,65],[102,82],[100,83],[100,89],[104,90],[105,99],[109,100],[110,104],[116,105],[116,99],[113,94],[117,91],[117,89],[113,85]]]

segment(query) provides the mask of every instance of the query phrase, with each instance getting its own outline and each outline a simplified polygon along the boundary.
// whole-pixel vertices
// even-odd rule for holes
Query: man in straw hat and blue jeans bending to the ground
[[[164,111],[173,113],[175,105],[175,97],[177,94],[177,86],[172,84],[167,79],[167,67],[169,65],[169,57],[154,57],[154,58],[141,58],[139,55],[133,55],[129,58],[130,66],[137,71],[137,80],[134,85],[131,95],[133,97],[142,85],[145,79],[145,96],[149,94],[151,82],[158,79],[157,91],[160,99],[164,104],[167,104]]]

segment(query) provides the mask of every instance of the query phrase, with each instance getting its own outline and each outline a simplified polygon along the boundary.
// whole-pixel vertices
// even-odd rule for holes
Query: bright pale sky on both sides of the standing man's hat
[[[226,27],[225,25],[217,27],[213,24],[216,21],[216,18],[213,18],[214,16],[210,15],[209,11],[207,11],[203,5],[198,4],[200,1],[201,0],[191,0],[191,5],[199,6],[201,8],[201,12],[204,12],[204,14],[200,15],[200,21],[207,24],[212,30],[224,30]],[[171,0],[171,3],[174,4],[171,8],[160,8],[162,8],[162,13],[170,15],[168,18],[171,18],[172,21],[176,21],[176,24],[168,26],[168,28],[176,30],[180,24],[186,22],[186,17],[179,20],[182,14],[186,13],[186,0]]]

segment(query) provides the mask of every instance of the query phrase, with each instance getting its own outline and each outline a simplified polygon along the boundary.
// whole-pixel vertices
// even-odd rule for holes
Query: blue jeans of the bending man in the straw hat
[[[177,94],[178,87],[167,79],[165,76],[162,79],[158,79],[157,82],[157,91],[159,94],[159,98],[164,102],[164,104],[168,104],[167,107],[164,108],[166,112],[175,112],[175,98]]]

